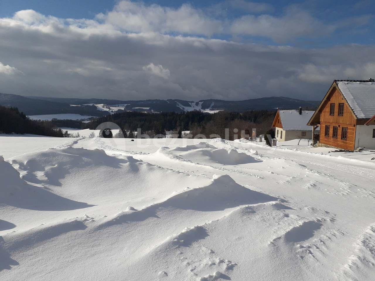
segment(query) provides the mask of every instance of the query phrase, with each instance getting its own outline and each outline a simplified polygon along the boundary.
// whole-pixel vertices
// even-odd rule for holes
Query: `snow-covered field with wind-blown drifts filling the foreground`
[[[245,140],[0,143],[0,280],[375,280],[371,161]]]

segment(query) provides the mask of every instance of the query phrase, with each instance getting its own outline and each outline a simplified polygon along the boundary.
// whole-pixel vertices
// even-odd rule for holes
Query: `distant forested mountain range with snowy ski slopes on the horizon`
[[[200,110],[215,112],[219,110],[243,112],[247,110],[273,109],[315,109],[319,101],[298,100],[288,97],[263,97],[249,100],[199,100],[197,102],[168,99],[168,100],[113,100],[113,99],[71,99],[55,97],[25,97],[0,93],[0,105],[15,106],[26,115],[76,113],[81,115],[103,116],[112,113],[110,109],[104,111],[102,107],[121,105],[125,110],[149,112],[186,112]],[[73,106],[80,105],[80,106]]]

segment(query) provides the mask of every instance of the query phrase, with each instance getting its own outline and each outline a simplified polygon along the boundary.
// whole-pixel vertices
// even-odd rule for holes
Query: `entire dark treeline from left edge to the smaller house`
[[[251,136],[252,129],[257,135],[264,134],[272,126],[276,111],[252,110],[243,113],[219,111],[214,114],[201,111],[183,113],[162,112],[121,112],[96,118],[89,123],[76,120],[36,121],[30,120],[17,108],[0,106],[0,133],[35,134],[63,137],[60,127],[96,129],[100,124],[117,124],[128,138],[136,137],[133,132],[141,129],[141,134],[151,138],[166,135],[166,131],[190,131],[190,138],[199,135],[205,138],[226,138],[229,140]],[[66,135],[66,133],[65,133]]]

